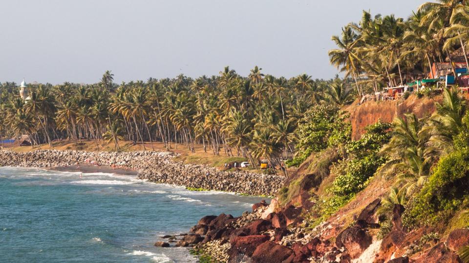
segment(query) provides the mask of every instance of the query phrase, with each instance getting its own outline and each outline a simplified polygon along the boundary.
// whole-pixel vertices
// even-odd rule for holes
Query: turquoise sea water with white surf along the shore
[[[153,243],[260,200],[131,175],[0,168],[0,262],[196,262]]]

